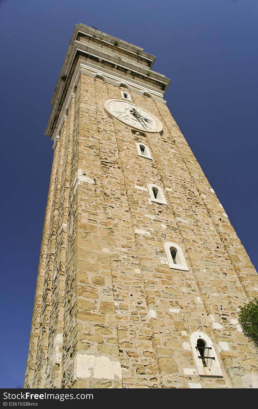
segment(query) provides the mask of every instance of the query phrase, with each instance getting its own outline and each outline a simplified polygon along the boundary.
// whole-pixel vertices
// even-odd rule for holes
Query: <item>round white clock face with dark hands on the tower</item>
[[[115,117],[131,128],[144,132],[160,132],[163,128],[158,118],[131,101],[108,98],[104,101],[104,109],[109,117]]]

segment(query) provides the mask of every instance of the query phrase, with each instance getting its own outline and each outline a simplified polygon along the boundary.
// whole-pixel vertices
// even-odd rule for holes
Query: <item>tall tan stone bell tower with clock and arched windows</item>
[[[24,387],[258,387],[238,307],[258,276],[142,48],[75,26]]]

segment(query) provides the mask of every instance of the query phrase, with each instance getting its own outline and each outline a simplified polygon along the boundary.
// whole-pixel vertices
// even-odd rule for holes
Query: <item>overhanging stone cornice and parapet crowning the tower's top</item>
[[[84,24],[75,25],[51,99],[53,108],[45,135],[52,137],[79,67],[83,67],[90,75],[101,75],[110,81],[135,86],[162,98],[170,79],[151,69],[155,59],[141,47]]]

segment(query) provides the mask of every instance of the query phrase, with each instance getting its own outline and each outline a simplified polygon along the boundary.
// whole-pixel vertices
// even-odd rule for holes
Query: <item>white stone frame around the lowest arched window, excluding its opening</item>
[[[202,339],[205,343],[205,346],[210,347],[212,349],[209,350],[209,356],[214,357],[214,360],[207,360],[207,367],[203,366],[203,362],[200,358],[198,358],[199,351],[196,349],[197,345],[197,340]],[[222,371],[221,371],[221,365],[218,361],[218,357],[214,348],[214,345],[212,343],[212,340],[208,337],[208,335],[196,331],[192,333],[191,338],[190,338],[190,344],[192,348],[192,353],[194,355],[194,362],[196,364],[196,368],[198,371],[198,374],[200,376],[215,376],[215,377],[223,377]]]

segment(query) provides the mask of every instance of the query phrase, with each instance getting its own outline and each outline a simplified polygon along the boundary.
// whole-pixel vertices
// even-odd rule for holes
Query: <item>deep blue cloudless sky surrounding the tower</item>
[[[44,136],[76,23],[143,47],[168,107],[258,267],[257,0],[0,0],[0,387],[22,387],[53,159]]]

